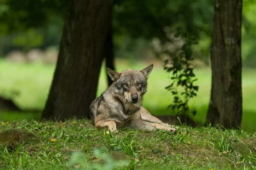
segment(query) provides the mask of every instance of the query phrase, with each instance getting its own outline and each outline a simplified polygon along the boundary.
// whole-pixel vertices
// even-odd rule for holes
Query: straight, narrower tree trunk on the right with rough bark
[[[242,0],[215,0],[207,122],[225,128],[241,125],[241,14]]]

